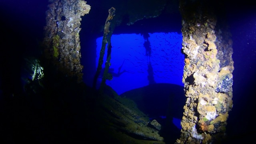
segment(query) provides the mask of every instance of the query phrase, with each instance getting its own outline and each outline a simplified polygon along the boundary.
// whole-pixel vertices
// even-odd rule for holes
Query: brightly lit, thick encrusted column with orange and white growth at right
[[[186,94],[180,144],[218,143],[232,108],[232,40],[203,1],[180,1]],[[222,31],[223,30],[223,31]]]

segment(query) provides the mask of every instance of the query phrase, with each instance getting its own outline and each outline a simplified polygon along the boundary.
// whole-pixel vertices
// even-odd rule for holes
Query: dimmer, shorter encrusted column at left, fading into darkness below
[[[50,0],[46,11],[45,56],[64,75],[82,81],[79,32],[81,16],[90,6],[84,0]]]

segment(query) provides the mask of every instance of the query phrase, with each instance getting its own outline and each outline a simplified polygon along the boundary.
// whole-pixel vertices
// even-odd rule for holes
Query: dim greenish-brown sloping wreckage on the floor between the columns
[[[148,116],[138,109],[136,103],[121,98],[110,86],[104,87],[99,104],[94,113],[100,122],[94,129],[99,129],[106,139],[114,138],[119,144],[165,144],[159,130],[149,126]],[[152,122],[157,126],[158,122]]]

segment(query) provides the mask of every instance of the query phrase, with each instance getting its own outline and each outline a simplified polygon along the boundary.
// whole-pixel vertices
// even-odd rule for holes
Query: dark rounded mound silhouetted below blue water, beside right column
[[[183,106],[186,102],[184,87],[176,84],[150,84],[120,96],[133,100],[151,121],[156,120],[162,125],[160,136],[164,137],[166,143],[176,142],[180,136],[180,129],[172,120],[182,119]]]

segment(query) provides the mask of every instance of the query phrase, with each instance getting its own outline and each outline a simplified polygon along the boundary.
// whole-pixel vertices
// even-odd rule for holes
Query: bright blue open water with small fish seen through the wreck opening
[[[150,43],[149,50],[146,50],[144,42]],[[106,84],[118,94],[151,83],[183,86],[184,55],[181,53],[181,42],[182,34],[177,32],[149,34],[146,40],[141,34],[112,35],[110,73],[113,74],[113,80],[107,80]],[[96,44],[98,66],[102,37],[96,39]]]

